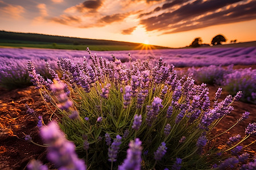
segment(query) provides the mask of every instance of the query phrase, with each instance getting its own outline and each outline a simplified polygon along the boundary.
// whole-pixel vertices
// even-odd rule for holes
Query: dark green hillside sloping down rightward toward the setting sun
[[[108,51],[108,50],[136,50],[143,49],[143,44],[124,41],[81,39],[78,37],[64,37],[43,35],[38,33],[19,33],[0,31],[0,46],[14,48],[48,48]],[[146,46],[144,46],[145,48]],[[152,49],[168,49],[163,46],[150,45]]]

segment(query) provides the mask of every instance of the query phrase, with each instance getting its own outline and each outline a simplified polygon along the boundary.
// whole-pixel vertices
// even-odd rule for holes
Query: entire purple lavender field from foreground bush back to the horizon
[[[20,124],[19,131],[11,128],[9,133],[0,133],[5,137],[2,160],[9,166],[10,159],[20,160],[28,169],[35,165],[42,169],[129,169],[130,161],[133,169],[250,167],[255,162],[251,162],[253,154],[245,151],[252,153],[255,143],[255,122],[248,124],[255,114],[247,120],[255,111],[256,69],[250,68],[255,63],[255,47],[92,53],[89,49],[0,49],[0,87],[11,90],[1,99],[5,106],[0,110],[1,128],[10,130],[11,121]],[[248,66],[234,69],[233,65]],[[186,68],[175,70],[174,66]],[[32,84],[35,87],[27,87]],[[218,87],[223,87],[226,97]],[[36,103],[38,97],[44,100]],[[230,119],[233,103],[241,110]],[[22,116],[16,117],[13,111]],[[8,121],[10,115],[13,118]],[[236,126],[232,135],[226,133],[237,124],[245,132],[237,134],[241,128]],[[43,158],[46,152],[37,156],[44,150],[33,145],[42,143],[39,131],[49,145],[47,159]],[[10,134],[22,140],[16,142]],[[13,144],[6,144],[10,141],[24,143],[16,148],[19,154],[7,154],[14,152]],[[28,157],[30,144],[36,152],[23,161],[19,155]],[[60,154],[51,156],[56,151]]]

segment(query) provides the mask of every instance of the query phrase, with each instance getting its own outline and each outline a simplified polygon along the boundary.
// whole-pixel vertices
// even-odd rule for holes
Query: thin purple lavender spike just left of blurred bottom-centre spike
[[[114,142],[108,149],[108,156],[109,156],[109,162],[115,162],[117,161],[117,154],[119,150],[119,146],[121,145],[121,139],[120,135],[117,135],[117,137],[114,139]]]

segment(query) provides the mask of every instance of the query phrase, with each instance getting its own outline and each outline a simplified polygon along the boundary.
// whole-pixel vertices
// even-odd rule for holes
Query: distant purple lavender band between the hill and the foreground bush
[[[256,63],[256,48],[196,48],[196,49],[163,49],[163,50],[130,50],[130,51],[108,51],[92,52],[98,57],[103,57],[112,61],[110,54],[128,62],[127,53],[131,53],[133,60],[150,59],[157,62],[159,57],[163,57],[168,64],[175,67],[209,66],[209,65],[254,65]],[[19,63],[28,59],[55,61],[57,58],[70,58],[72,60],[89,57],[86,50],[53,50],[53,49],[13,49],[0,48],[1,65],[3,62],[14,62],[19,59]],[[9,58],[8,61],[6,58]]]

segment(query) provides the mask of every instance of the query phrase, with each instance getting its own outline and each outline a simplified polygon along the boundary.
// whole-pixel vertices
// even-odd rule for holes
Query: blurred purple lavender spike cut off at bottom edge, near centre
[[[123,164],[118,167],[119,170],[140,170],[141,169],[141,152],[142,146],[139,138],[136,138],[135,141],[130,141],[129,149],[127,150],[127,156]]]

